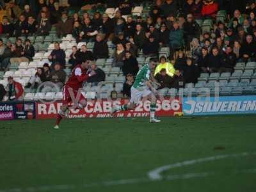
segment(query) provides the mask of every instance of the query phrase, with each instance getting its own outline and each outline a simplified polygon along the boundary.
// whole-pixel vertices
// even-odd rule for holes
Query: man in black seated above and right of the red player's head
[[[93,47],[93,57],[95,59],[104,59],[108,58],[108,44],[106,40],[104,40],[103,34],[98,34],[96,36],[96,41]]]

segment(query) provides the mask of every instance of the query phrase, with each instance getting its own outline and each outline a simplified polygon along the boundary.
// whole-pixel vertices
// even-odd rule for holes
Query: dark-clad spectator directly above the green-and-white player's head
[[[156,41],[153,35],[149,35],[143,45],[143,54],[145,57],[154,57],[158,55],[159,42]]]

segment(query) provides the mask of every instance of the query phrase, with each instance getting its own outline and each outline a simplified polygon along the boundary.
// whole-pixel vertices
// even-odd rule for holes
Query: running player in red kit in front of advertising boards
[[[89,77],[95,75],[95,71],[90,69],[90,60],[83,61],[77,65],[69,77],[67,83],[63,86],[63,99],[60,112],[58,113],[54,129],[59,129],[60,122],[68,112],[68,104],[72,103],[72,108],[82,109],[86,107],[86,99],[81,94],[83,82]]]

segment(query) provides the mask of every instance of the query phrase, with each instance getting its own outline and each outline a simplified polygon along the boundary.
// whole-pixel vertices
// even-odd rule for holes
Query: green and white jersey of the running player
[[[133,83],[133,87],[137,90],[144,90],[147,88],[147,85],[145,84],[146,81],[149,80],[150,77],[150,68],[147,65],[144,65],[139,71],[135,78],[135,81]]]

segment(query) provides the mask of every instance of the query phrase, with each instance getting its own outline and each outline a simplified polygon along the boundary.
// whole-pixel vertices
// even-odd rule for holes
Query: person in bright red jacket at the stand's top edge
[[[214,0],[204,0],[204,5],[202,8],[202,16],[203,17],[216,17],[216,13],[218,12],[219,6],[218,3],[214,2]]]

